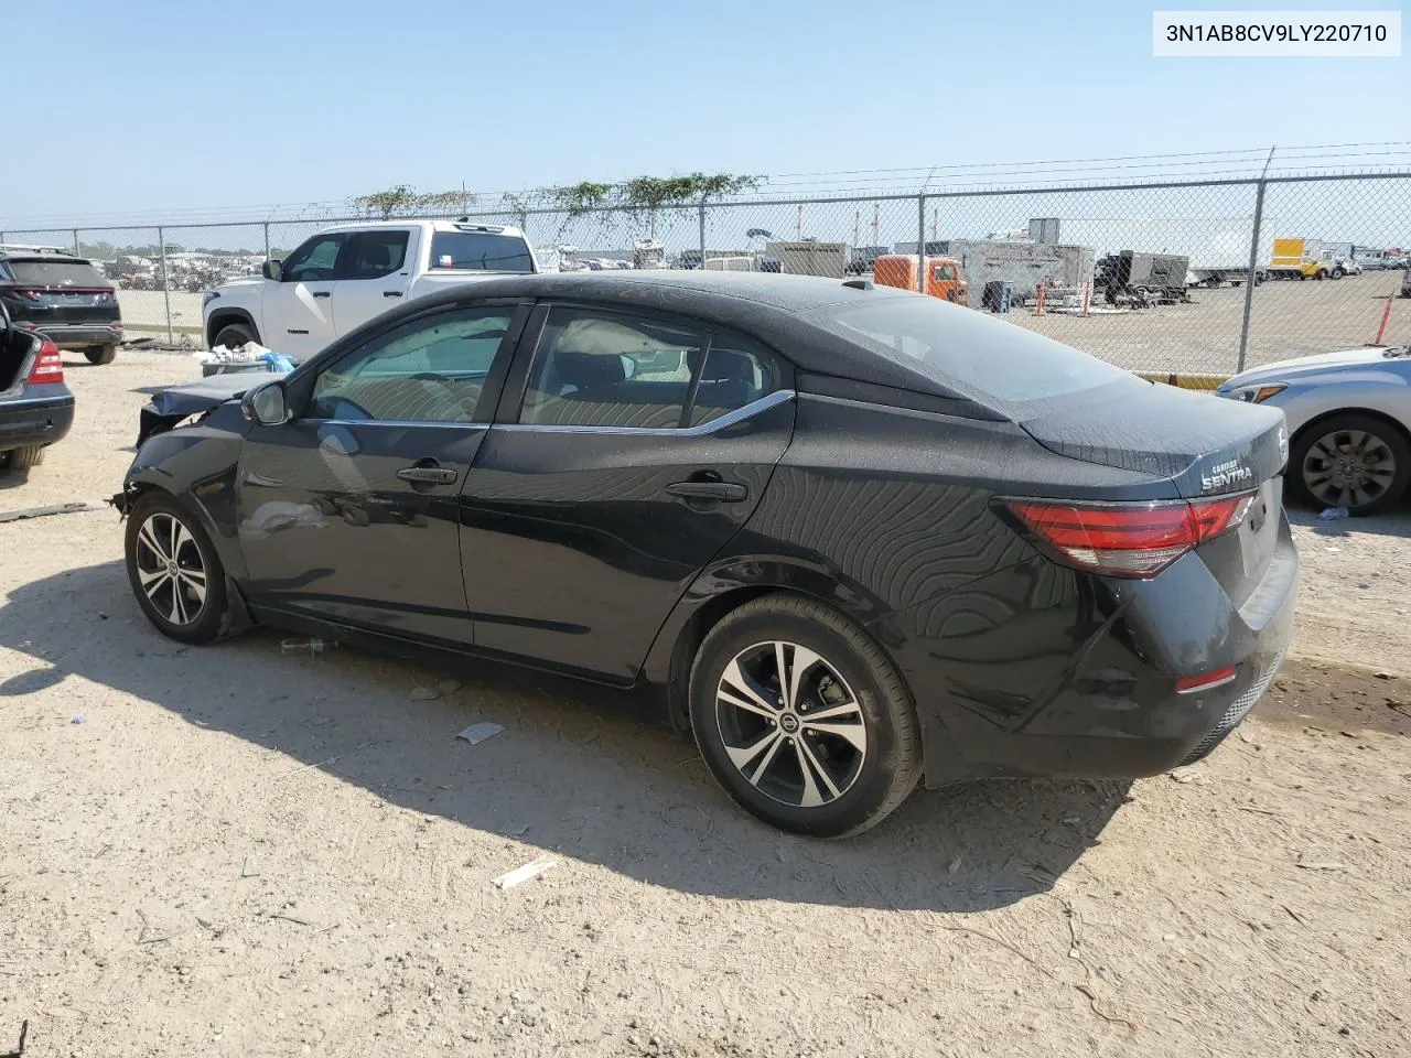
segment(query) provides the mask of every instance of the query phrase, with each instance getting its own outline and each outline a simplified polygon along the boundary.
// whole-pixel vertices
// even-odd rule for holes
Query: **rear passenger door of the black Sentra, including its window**
[[[461,491],[477,647],[628,683],[793,433],[787,365],[677,317],[540,305]]]

